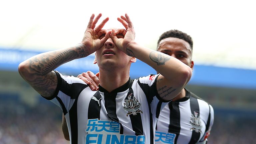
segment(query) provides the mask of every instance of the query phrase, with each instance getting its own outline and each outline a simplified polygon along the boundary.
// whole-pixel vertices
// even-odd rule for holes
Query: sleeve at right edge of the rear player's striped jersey
[[[207,120],[207,124],[206,124],[205,133],[199,142],[207,141],[207,138],[209,137],[211,129],[212,129],[212,125],[213,125],[213,121],[214,121],[214,111],[213,111],[213,107],[210,104],[209,104],[209,109],[210,110],[209,110],[209,116],[208,116],[208,120]]]

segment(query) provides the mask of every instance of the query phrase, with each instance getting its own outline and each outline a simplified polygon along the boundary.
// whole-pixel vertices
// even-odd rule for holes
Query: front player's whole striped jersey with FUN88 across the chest
[[[156,90],[159,75],[130,79],[108,92],[92,91],[81,79],[55,71],[51,100],[65,115],[71,144],[153,144],[160,110],[168,104]]]

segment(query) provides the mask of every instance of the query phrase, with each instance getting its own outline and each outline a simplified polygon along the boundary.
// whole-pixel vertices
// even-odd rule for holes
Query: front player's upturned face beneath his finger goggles
[[[102,39],[107,31],[109,30],[105,30],[105,33],[102,34],[99,38]],[[116,36],[118,38],[124,38],[122,34],[117,34]],[[104,45],[95,52],[95,57],[95,63],[98,64],[99,68],[107,69],[127,67],[130,64],[132,58],[119,50],[111,37],[108,38]]]

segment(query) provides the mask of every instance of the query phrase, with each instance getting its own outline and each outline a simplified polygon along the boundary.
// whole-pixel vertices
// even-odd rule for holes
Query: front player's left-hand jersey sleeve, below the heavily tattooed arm
[[[65,115],[70,110],[81,91],[88,85],[77,77],[63,76],[58,71],[55,71],[55,73],[58,78],[57,88],[52,98],[48,100],[58,105]]]

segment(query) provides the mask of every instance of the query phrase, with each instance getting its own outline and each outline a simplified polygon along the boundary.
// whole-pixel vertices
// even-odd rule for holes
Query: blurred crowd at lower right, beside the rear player
[[[215,113],[207,144],[255,144],[256,113],[251,114]]]

